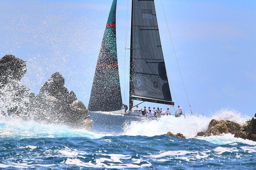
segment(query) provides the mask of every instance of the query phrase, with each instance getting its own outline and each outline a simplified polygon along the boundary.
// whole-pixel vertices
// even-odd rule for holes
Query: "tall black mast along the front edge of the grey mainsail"
[[[133,107],[133,100],[132,100],[132,93],[133,93],[133,85],[132,85],[132,74],[133,74],[133,64],[132,64],[132,33],[133,33],[133,0],[132,0],[132,21],[131,21],[131,46],[130,46],[130,93],[129,93],[129,110],[132,110]]]

